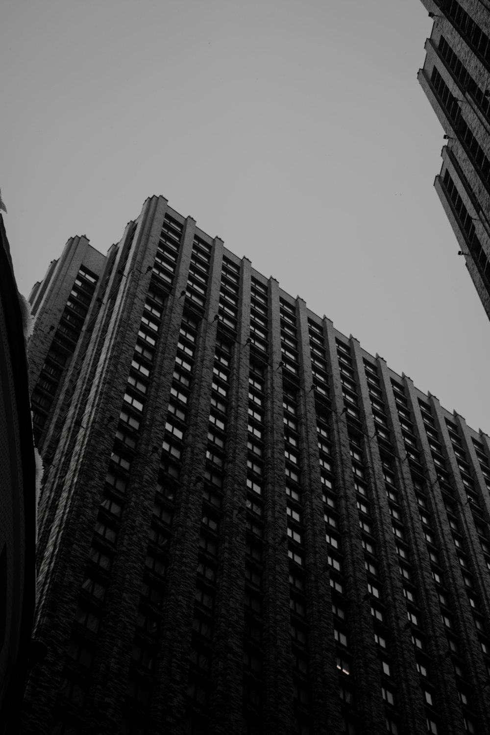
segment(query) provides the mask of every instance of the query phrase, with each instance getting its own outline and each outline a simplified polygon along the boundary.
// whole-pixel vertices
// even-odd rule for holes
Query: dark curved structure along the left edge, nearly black
[[[18,724],[35,609],[36,464],[23,306],[0,215],[1,735]]]

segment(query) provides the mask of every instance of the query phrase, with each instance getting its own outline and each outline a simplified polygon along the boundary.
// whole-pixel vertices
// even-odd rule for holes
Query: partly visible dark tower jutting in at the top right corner
[[[447,140],[434,186],[490,318],[490,4],[422,3],[434,24],[419,82]]]

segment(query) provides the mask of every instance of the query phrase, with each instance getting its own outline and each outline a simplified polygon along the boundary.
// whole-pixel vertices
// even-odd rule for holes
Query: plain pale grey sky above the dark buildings
[[[28,295],[148,196],[490,433],[490,325],[433,189],[419,0],[10,0],[0,187]]]

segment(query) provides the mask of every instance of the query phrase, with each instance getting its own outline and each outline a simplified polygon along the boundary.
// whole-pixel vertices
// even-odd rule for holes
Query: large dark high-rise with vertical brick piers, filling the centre
[[[489,437],[165,198],[87,248],[34,295],[21,732],[488,734]]]

